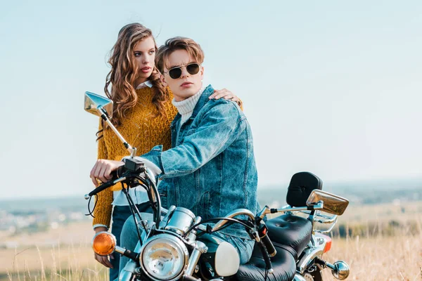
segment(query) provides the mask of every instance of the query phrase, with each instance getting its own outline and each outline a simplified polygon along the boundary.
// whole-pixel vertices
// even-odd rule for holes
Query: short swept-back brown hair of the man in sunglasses
[[[164,67],[168,68],[167,62],[169,55],[177,50],[185,50],[193,58],[196,63],[202,64],[204,61],[204,52],[200,45],[190,38],[186,37],[173,37],[167,39],[165,44],[158,48],[155,55],[155,65],[161,73],[164,73]]]

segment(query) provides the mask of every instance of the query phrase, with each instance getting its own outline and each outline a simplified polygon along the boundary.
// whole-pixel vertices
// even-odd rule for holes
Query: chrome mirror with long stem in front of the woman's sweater
[[[123,145],[127,150],[130,152],[131,157],[136,156],[136,148],[132,148],[126,140],[124,140],[123,136],[117,131],[113,123],[110,122],[110,119],[113,115],[113,100],[108,98],[104,98],[103,96],[97,95],[96,93],[85,92],[85,100],[84,100],[84,109],[85,111],[101,117],[113,132],[120,138]]]

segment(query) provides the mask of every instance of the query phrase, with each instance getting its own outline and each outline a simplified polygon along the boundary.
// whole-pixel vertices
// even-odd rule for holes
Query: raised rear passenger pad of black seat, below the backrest
[[[268,220],[266,224],[271,241],[293,248],[295,260],[311,240],[312,223],[306,218],[284,214]]]

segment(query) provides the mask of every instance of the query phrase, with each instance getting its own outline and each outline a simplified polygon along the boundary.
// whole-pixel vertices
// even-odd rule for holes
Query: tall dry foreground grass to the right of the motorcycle
[[[422,235],[335,239],[327,261],[346,261],[347,280],[422,280]],[[335,280],[326,269],[325,280]]]

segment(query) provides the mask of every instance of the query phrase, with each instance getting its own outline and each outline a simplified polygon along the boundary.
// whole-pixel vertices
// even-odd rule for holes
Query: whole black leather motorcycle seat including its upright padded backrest
[[[314,189],[321,189],[320,178],[309,172],[293,175],[286,202],[292,207],[306,206],[307,197]],[[306,218],[284,214],[266,222],[268,236],[274,243],[277,254],[271,258],[274,274],[269,274],[269,281],[291,281],[296,273],[296,261],[302,254],[312,236],[312,223]],[[265,262],[255,244],[252,258],[240,266],[236,273],[238,281],[264,281]]]

